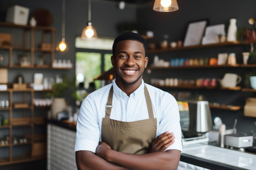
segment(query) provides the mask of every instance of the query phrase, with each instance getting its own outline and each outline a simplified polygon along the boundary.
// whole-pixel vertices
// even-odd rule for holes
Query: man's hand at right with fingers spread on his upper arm
[[[148,153],[157,151],[163,152],[166,148],[174,143],[174,139],[175,136],[173,133],[164,132],[155,138],[155,140],[151,143],[150,147],[148,148]]]

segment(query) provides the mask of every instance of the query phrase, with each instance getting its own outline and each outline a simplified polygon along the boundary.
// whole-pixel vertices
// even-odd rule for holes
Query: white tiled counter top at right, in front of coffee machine
[[[256,170],[256,155],[208,144],[183,146],[182,153],[239,168]]]

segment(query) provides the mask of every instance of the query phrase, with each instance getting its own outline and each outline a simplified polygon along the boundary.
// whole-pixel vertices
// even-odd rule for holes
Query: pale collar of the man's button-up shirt
[[[144,80],[141,80],[141,85],[132,93],[130,94],[130,97],[137,98],[137,96],[144,92]],[[124,93],[116,84],[116,79],[113,81],[113,91],[114,95],[117,97],[117,99],[121,99],[121,97],[127,96],[126,93]],[[125,95],[124,95],[125,94]]]

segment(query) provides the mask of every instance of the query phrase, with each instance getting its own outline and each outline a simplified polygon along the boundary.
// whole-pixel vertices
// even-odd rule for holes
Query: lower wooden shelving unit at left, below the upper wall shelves
[[[9,93],[9,105],[10,107],[0,108],[1,110],[7,110],[9,112],[9,125],[0,126],[0,131],[2,129],[9,129],[9,141],[8,144],[1,145],[0,144],[0,155],[4,152],[1,152],[1,149],[7,148],[9,151],[9,155],[6,155],[6,157],[0,158],[0,166],[2,165],[9,165],[13,163],[23,163],[23,162],[29,162],[34,161],[37,159],[46,159],[46,154],[34,156],[33,154],[35,152],[43,152],[41,149],[36,147],[38,144],[40,146],[46,147],[46,132],[35,134],[34,128],[35,126],[46,126],[46,114],[43,114],[42,117],[35,117],[35,108],[40,108],[40,110],[49,109],[49,106],[45,107],[35,107],[33,104],[34,99],[34,93],[47,93],[51,92],[51,90],[44,90],[44,91],[34,91],[33,88],[25,88],[25,89],[12,89],[8,88],[7,91],[0,91],[1,93]],[[24,104],[24,106],[18,106],[15,107],[15,103],[13,102],[14,96],[17,96],[16,93],[21,93],[22,95],[22,101],[19,101],[19,103]],[[28,95],[29,93],[29,95]],[[22,111],[22,117],[18,117],[16,115],[16,110]],[[27,111],[29,113],[27,113]],[[22,130],[23,134],[20,134],[21,137],[24,137],[27,139],[27,142],[23,143],[13,143],[12,137],[13,137],[13,130],[16,128]],[[27,131],[29,129],[29,133]],[[46,127],[45,127],[46,129]],[[2,136],[0,136],[0,139]],[[16,147],[20,148],[16,148]],[[30,148],[30,151],[26,151],[27,148]],[[36,149],[36,150],[35,150]],[[39,149],[39,150],[38,150]],[[20,155],[18,157],[13,156],[13,152],[16,150],[20,150],[19,152],[23,152],[23,155]],[[22,151],[21,151],[22,150]]]

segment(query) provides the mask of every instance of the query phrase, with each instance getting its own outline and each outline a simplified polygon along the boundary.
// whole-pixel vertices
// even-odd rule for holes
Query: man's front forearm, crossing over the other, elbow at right
[[[104,159],[131,170],[177,170],[180,161],[180,150],[152,152],[143,155],[108,150]]]

